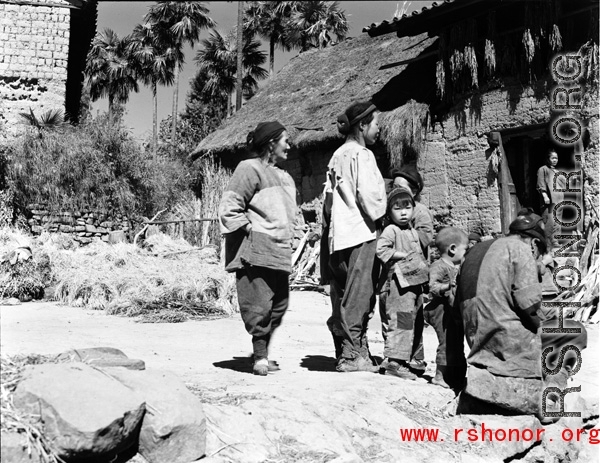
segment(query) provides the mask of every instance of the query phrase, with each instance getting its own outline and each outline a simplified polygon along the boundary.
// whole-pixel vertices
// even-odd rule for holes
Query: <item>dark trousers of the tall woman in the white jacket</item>
[[[334,339],[343,339],[346,359],[368,356],[367,326],[379,275],[375,248],[376,240],[371,240],[329,256],[332,314],[327,326]]]

